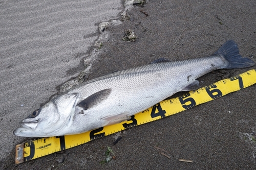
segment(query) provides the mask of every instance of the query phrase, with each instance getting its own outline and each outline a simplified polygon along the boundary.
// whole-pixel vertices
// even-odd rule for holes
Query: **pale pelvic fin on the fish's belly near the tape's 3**
[[[113,124],[121,123],[125,120],[129,120],[131,118],[130,115],[131,115],[130,112],[123,112],[123,113],[119,113],[111,116],[102,117],[101,120],[105,122],[104,126],[113,125]]]

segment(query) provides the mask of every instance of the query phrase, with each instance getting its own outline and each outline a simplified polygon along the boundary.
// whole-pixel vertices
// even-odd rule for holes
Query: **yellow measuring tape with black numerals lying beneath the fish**
[[[252,69],[241,75],[221,80],[195,91],[189,91],[177,98],[164,100],[143,112],[131,116],[131,119],[126,122],[101,127],[82,134],[45,137],[17,144],[15,149],[15,163],[26,162],[58,151],[76,147],[77,145],[122,131],[129,127],[142,125],[165,116],[170,116],[202,103],[220,98],[233,91],[241,90],[255,83],[256,69]]]

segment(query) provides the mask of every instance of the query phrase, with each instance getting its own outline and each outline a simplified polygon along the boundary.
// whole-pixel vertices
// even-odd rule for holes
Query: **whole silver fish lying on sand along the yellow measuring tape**
[[[50,137],[87,132],[128,120],[178,91],[198,88],[197,78],[216,69],[253,66],[229,40],[211,56],[164,58],[89,80],[62,93],[23,119],[14,135]]]

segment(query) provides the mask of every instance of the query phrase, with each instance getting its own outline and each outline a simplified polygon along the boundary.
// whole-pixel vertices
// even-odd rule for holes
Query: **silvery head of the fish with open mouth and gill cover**
[[[63,129],[72,122],[78,93],[57,96],[40,109],[33,111],[13,131],[16,136],[49,137],[63,135]]]

